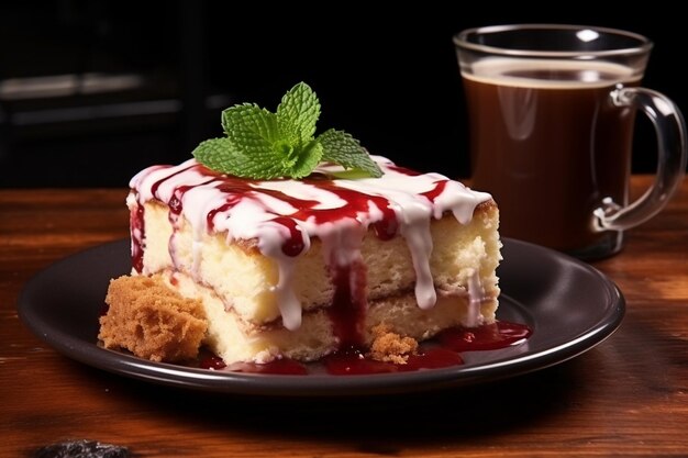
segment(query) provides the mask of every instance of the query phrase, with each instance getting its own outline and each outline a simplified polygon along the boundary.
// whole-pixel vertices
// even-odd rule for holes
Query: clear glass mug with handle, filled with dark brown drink
[[[686,169],[686,125],[641,87],[653,43],[565,24],[465,30],[454,36],[468,109],[471,186],[500,208],[500,232],[597,259],[659,212]],[[629,203],[635,112],[657,136],[657,174]]]

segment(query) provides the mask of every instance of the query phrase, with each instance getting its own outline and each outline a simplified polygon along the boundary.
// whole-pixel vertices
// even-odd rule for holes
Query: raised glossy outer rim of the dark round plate
[[[619,328],[625,315],[625,299],[618,286],[603,272],[589,264],[540,245],[509,237],[502,237],[501,242],[504,246],[503,249],[524,249],[539,253],[566,266],[581,269],[586,275],[597,279],[599,286],[604,289],[610,298],[606,313],[586,329],[580,329],[577,338],[534,353],[497,358],[491,362],[475,366],[356,376],[243,373],[148,361],[133,355],[102,348],[96,342],[89,343],[78,336],[67,334],[60,328],[55,328],[37,314],[37,308],[31,303],[32,288],[35,288],[41,281],[45,281],[46,277],[49,278],[52,272],[65,264],[76,262],[85,256],[99,252],[114,252],[121,249],[121,245],[129,246],[129,238],[81,249],[34,273],[24,283],[16,302],[16,309],[21,321],[34,335],[52,346],[57,353],[81,364],[114,375],[171,387],[221,393],[279,396],[397,394],[502,380],[545,369],[575,358],[609,338]],[[500,268],[503,268],[506,262],[509,262],[508,258],[502,261]],[[501,282],[503,280],[500,280],[500,284]],[[501,294],[511,298],[508,291],[502,290]],[[518,303],[519,301],[514,300],[514,302]]]

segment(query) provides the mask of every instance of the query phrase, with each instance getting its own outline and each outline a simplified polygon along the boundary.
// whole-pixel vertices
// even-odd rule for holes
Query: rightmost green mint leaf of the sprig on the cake
[[[330,129],[318,137],[324,149],[323,160],[339,164],[346,169],[360,170],[379,178],[382,170],[360,146],[358,141],[344,131]]]

